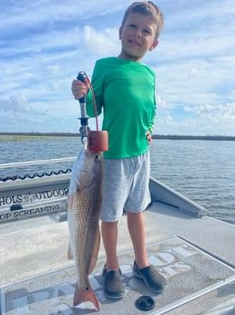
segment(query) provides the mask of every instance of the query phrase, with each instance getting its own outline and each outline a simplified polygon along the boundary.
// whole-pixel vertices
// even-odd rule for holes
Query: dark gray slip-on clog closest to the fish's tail
[[[125,289],[121,279],[121,270],[107,271],[106,265],[103,268],[104,293],[108,299],[122,299]]]

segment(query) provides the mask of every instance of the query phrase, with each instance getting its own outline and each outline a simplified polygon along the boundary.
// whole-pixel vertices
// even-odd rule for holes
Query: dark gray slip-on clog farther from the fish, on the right
[[[161,276],[152,265],[139,269],[136,262],[134,262],[133,274],[135,277],[141,278],[147,288],[156,293],[162,292],[167,285],[166,278]]]

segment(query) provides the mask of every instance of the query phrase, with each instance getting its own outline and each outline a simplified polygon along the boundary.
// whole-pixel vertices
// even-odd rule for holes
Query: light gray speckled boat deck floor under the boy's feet
[[[149,261],[168,279],[168,286],[157,295],[133,278],[133,251],[123,215],[118,257],[126,295],[115,301],[104,297],[101,244],[90,278],[99,313],[235,314],[235,226],[161,202],[148,208],[145,219]],[[67,243],[67,223],[58,222],[56,214],[1,225],[2,315],[97,314],[92,305],[72,306],[76,275],[73,261],[66,258]],[[152,297],[154,308],[138,310],[135,302],[140,296]]]

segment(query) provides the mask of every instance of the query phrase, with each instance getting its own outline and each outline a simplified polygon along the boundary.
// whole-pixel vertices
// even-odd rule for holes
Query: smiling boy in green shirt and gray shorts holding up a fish
[[[128,230],[134,248],[134,276],[148,289],[161,292],[167,281],[149,265],[143,211],[150,203],[148,181],[151,142],[156,103],[155,75],[140,61],[158,45],[163,16],[151,1],[134,2],[119,28],[121,52],[117,58],[97,60],[92,86],[97,114],[103,108],[102,129],[108,132],[108,151],[104,153],[103,205],[101,233],[107,256],[103,270],[104,292],[109,299],[124,297],[121,271],[117,261],[117,222],[128,216]],[[87,114],[95,116],[91,92],[74,80],[72,92],[79,100],[87,95]]]

